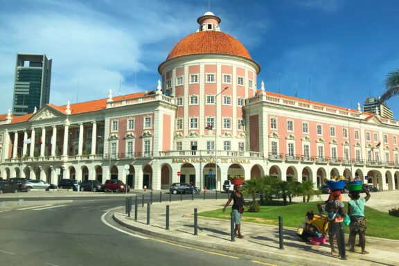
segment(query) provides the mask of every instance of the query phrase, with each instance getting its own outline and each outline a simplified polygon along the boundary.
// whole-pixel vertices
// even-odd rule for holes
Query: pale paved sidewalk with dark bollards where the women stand
[[[301,242],[295,229],[284,229],[284,249],[279,249],[278,227],[242,222],[242,234],[245,238],[236,238],[231,242],[230,221],[198,216],[198,236],[194,236],[194,209],[198,213],[222,209],[226,199],[195,199],[184,202],[162,202],[150,205],[150,225],[147,223],[147,205],[139,204],[138,221],[134,221],[134,206],[131,217],[125,209],[114,213],[114,220],[134,231],[165,238],[190,245],[209,247],[236,254],[248,254],[283,260],[294,265],[399,265],[399,241],[371,238],[366,236],[368,255],[346,251],[347,260],[330,255],[330,246],[314,246]],[[166,230],[166,205],[170,206],[170,230]],[[244,213],[245,215],[245,213]],[[298,220],[298,224],[300,222]],[[346,236],[346,241],[348,236]],[[348,249],[348,248],[347,248]]]

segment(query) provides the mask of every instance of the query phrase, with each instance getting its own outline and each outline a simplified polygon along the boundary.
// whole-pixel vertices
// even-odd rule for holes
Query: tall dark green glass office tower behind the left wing
[[[46,55],[17,53],[12,114],[33,113],[50,100],[51,60]]]

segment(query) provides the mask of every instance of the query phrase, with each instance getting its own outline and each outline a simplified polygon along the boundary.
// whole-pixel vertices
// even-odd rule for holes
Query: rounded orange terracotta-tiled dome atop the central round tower
[[[166,60],[202,53],[237,55],[252,60],[245,46],[237,39],[227,33],[213,30],[199,31],[184,37],[173,47]]]

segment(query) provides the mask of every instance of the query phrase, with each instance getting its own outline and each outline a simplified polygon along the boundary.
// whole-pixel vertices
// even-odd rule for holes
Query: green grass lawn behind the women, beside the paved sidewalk
[[[244,222],[256,222],[259,224],[278,225],[278,216],[283,217],[284,227],[299,227],[301,220],[305,217],[308,209],[317,213],[318,202],[305,202],[298,204],[290,204],[287,206],[260,206],[259,213],[249,213],[245,211],[242,216]],[[348,203],[345,203],[345,209],[348,210]],[[230,219],[231,208],[223,213],[222,209],[214,211],[205,211],[198,215],[211,218]],[[398,222],[399,218],[393,217],[388,213],[376,211],[366,206],[364,210],[367,220],[366,236],[374,236],[377,238],[389,238],[399,240]],[[348,233],[345,226],[345,232]]]

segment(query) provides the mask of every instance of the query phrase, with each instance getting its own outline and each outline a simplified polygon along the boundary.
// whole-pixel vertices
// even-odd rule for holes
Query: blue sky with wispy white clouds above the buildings
[[[158,65],[195,32],[208,0],[0,0],[0,114],[12,107],[16,53],[53,59],[55,105],[152,90]],[[268,91],[356,108],[399,68],[399,1],[212,0]],[[120,75],[121,73],[121,75]],[[280,76],[280,86],[278,77]],[[309,89],[310,79],[310,89]],[[399,119],[399,98],[387,102]]]

